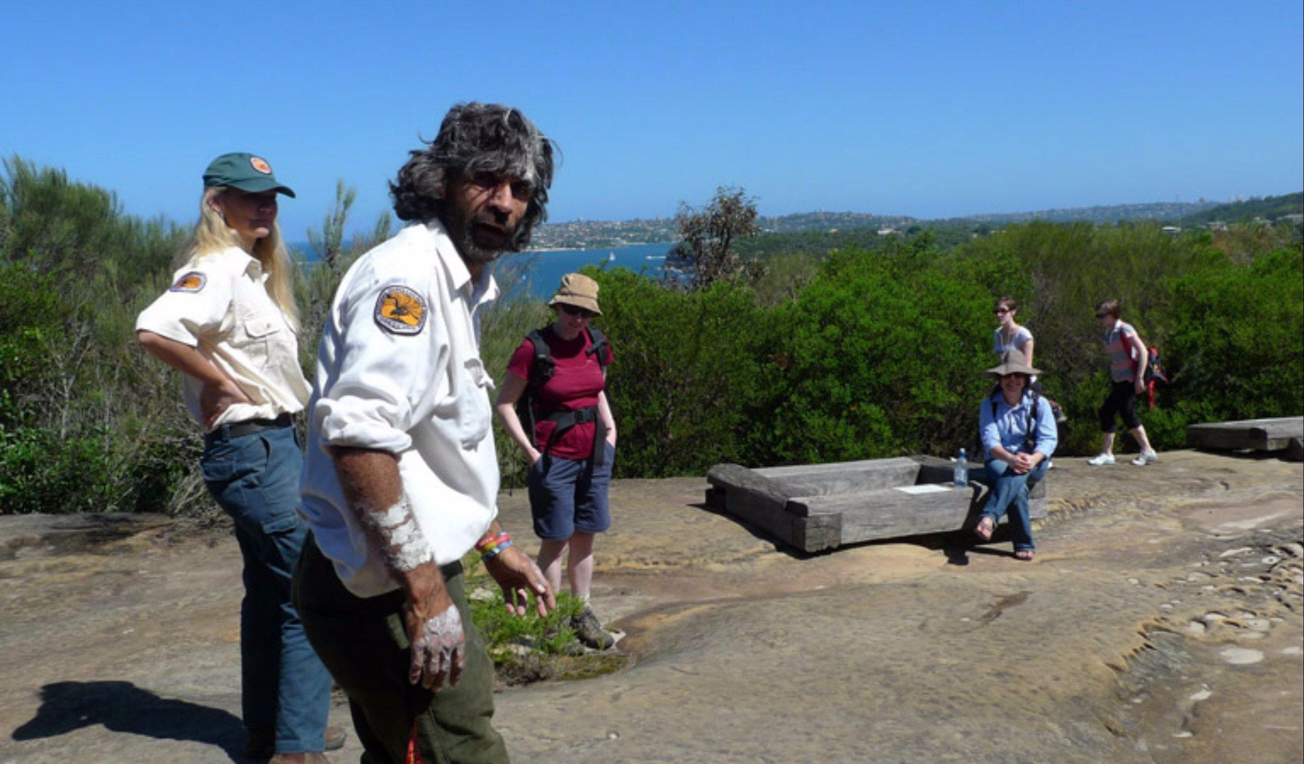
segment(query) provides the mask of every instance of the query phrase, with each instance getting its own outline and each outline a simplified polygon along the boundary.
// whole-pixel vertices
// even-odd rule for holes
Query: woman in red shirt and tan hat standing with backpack
[[[584,601],[572,623],[580,640],[605,649],[612,635],[589,606],[593,536],[612,525],[606,501],[615,458],[615,420],[606,400],[606,365],[612,351],[588,322],[597,306],[597,282],[582,274],[562,276],[549,301],[556,321],[531,332],[507,362],[507,378],[496,408],[511,439],[529,459],[529,508],[540,538],[539,567],[553,591],[561,587],[562,553],[571,593]],[[542,347],[540,347],[542,345]],[[532,432],[516,413],[528,398]]]

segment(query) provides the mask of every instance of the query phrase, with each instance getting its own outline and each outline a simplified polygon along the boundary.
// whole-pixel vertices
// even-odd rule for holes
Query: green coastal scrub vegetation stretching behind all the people
[[[297,278],[309,377],[340,274],[391,231],[382,215],[344,241],[349,192],[339,185],[309,236],[330,265],[304,263]],[[0,512],[218,515],[180,379],[133,335],[137,313],[167,288],[184,235],[173,222],[126,215],[112,192],[61,169],[4,162]],[[1158,447],[1183,446],[1188,422],[1304,412],[1296,226],[1172,235],[1155,223],[1042,222],[853,239],[831,250],[829,241],[752,239],[764,246],[746,254],[748,267],[687,289],[588,271],[615,359],[618,476],[953,454],[974,439],[1000,295],[1018,301],[1046,392],[1069,416],[1065,455],[1098,442],[1108,372],[1091,309],[1103,297],[1119,297],[1124,318],[1163,355],[1172,385],[1154,409],[1141,407]],[[482,355],[501,377],[550,313],[522,274],[498,280],[503,297],[484,316]],[[498,437],[505,485],[520,485],[518,450]]]

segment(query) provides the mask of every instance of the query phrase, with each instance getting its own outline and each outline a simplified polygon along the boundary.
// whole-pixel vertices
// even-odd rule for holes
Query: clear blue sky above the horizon
[[[65,3],[4,0],[0,154],[189,222],[223,151],[299,192],[289,240],[355,227],[449,106],[559,145],[554,222],[969,213],[1304,186],[1304,20],[1222,3]]]

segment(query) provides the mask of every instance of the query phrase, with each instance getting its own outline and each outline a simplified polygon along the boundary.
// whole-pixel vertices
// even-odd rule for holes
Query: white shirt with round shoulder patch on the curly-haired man
[[[476,280],[443,226],[411,224],[344,274],[317,353],[301,514],[349,592],[398,588],[344,499],[327,446],[398,456],[436,562],[460,559],[498,514],[498,462],[480,361]]]

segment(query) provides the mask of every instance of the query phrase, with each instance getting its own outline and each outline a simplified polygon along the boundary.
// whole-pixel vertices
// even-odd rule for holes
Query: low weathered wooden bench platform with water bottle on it
[[[952,485],[955,463],[902,456],[835,464],[748,469],[717,464],[707,473],[707,503],[803,551],[878,538],[973,527],[986,502],[982,464],[970,485]],[[1046,516],[1046,482],[1030,494],[1033,518]]]

